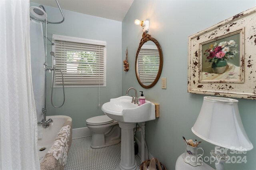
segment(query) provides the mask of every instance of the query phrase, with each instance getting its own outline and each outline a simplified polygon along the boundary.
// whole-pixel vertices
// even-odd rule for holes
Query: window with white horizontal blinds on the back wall
[[[65,87],[106,86],[106,41],[52,35],[56,69]],[[55,72],[54,87],[62,87]]]

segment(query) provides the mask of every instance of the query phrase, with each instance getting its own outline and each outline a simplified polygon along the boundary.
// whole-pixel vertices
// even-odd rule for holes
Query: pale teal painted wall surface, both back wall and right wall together
[[[34,3],[30,5],[39,6]],[[129,87],[143,90],[147,100],[159,103],[160,118],[146,123],[146,139],[150,153],[168,170],[172,170],[175,169],[176,159],[185,149],[182,136],[198,139],[191,127],[196,121],[204,96],[187,92],[188,36],[255,5],[254,0],[135,0],[122,22],[63,10],[66,20],[61,24],[48,24],[48,37],[51,39],[52,34],[59,34],[107,42],[107,84],[100,89],[101,105],[110,98],[125,95]],[[45,7],[48,20],[61,20],[58,8]],[[164,65],[161,77],[167,78],[166,90],[161,89],[160,81],[153,88],[144,89],[136,80],[135,57],[142,29],[134,25],[135,19],[150,20],[148,33],[162,47]],[[126,47],[130,63],[128,72],[123,71],[122,65]],[[48,43],[49,66],[50,51],[51,45]],[[48,115],[68,115],[73,119],[73,128],[79,128],[86,127],[87,118],[104,114],[98,107],[98,88],[65,88],[66,102],[63,107],[56,109],[50,103],[49,73],[47,82]],[[226,164],[225,168],[255,170],[256,101],[238,100],[242,122],[254,149],[245,154],[248,160],[246,164]],[[53,101],[56,105],[61,104],[61,88],[54,89]],[[200,145],[205,149],[206,156],[214,149],[214,145],[204,141]]]

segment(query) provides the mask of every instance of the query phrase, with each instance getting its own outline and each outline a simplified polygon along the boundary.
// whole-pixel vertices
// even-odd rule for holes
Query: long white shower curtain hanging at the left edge
[[[0,0],[0,169],[40,169],[29,0]]]

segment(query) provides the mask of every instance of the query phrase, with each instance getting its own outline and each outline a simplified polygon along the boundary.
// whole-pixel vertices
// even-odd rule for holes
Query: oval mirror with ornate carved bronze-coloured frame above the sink
[[[143,33],[136,53],[135,72],[143,88],[152,88],[163,68],[162,49],[156,39]]]

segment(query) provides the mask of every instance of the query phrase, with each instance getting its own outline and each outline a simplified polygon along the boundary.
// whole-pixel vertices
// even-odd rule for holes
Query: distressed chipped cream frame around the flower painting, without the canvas
[[[202,79],[202,45],[240,33],[240,77]],[[256,7],[189,37],[188,92],[256,100]],[[212,74],[214,76],[215,74]]]

